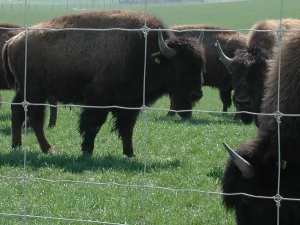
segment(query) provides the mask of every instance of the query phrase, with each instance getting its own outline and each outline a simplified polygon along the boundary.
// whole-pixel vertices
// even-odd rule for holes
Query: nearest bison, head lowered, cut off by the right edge
[[[280,70],[279,111],[300,113],[300,32],[289,32],[283,40]],[[270,64],[261,112],[277,110],[279,52]],[[236,151],[225,147],[228,158],[222,176],[224,193],[244,192],[259,196],[276,196],[278,178],[278,130],[274,116],[259,117],[258,134]],[[280,116],[279,116],[280,118]],[[281,197],[300,198],[300,117],[280,118],[280,191]],[[277,206],[273,199],[246,195],[223,195],[227,209],[233,209],[237,224],[277,224]],[[279,224],[300,224],[300,202],[281,199]]]

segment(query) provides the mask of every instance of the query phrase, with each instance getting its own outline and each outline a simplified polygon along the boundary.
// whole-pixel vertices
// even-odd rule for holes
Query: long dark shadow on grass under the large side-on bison
[[[2,153],[0,157],[0,167],[9,165],[19,167],[23,165],[24,152],[18,149],[11,149],[9,152]],[[148,162],[146,171],[155,171],[167,168],[181,167],[179,159]],[[43,167],[63,169],[72,173],[80,173],[86,170],[124,170],[129,172],[142,172],[144,163],[137,158],[117,157],[114,155],[103,156],[69,156],[66,154],[43,154],[42,152],[26,152],[26,166],[37,170]]]

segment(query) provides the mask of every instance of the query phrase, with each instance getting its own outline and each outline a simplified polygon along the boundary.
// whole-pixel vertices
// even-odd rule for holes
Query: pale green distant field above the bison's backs
[[[81,7],[80,7],[81,5]],[[298,2],[296,0],[284,0],[283,16],[297,17],[298,16]],[[0,21],[11,21],[19,24],[24,23],[23,4],[12,5],[3,4],[3,9],[0,5]],[[67,8],[68,7],[68,8]],[[134,10],[144,10],[143,4],[132,6],[121,6],[109,4],[92,4],[91,1],[69,4],[30,4],[27,13],[27,25],[43,19],[48,19],[53,16],[58,16],[67,13],[78,12],[72,8],[86,8],[86,9],[122,9],[130,8]],[[277,3],[271,0],[251,0],[240,2],[225,2],[225,3],[186,3],[186,4],[150,4],[147,5],[147,10],[154,12],[161,16],[164,21],[169,24],[179,23],[210,23],[216,25],[227,26],[229,28],[249,28],[254,22],[265,19],[278,19],[280,14],[280,1]]]

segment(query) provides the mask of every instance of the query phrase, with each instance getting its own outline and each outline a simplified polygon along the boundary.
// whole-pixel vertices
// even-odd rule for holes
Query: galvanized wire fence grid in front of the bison
[[[25,32],[25,34],[27,34],[28,29],[31,29],[30,27],[24,26],[23,30]],[[34,28],[35,29],[35,28]],[[114,28],[111,28],[109,30],[112,30]],[[53,29],[51,29],[53,30]],[[62,30],[62,29],[61,29]],[[106,29],[107,30],[107,29]],[[129,30],[129,29],[127,29]],[[146,43],[146,38],[147,35],[146,33],[150,31],[149,28],[147,27],[142,27],[141,29],[135,29],[135,30],[140,30],[144,33],[144,37],[145,37],[145,43]],[[166,29],[161,29],[161,30],[166,30]],[[201,29],[206,31],[205,29]],[[208,30],[209,31],[209,30]],[[221,31],[221,30],[220,30]],[[226,30],[224,30],[226,31]],[[278,33],[280,33],[280,30],[276,30]],[[27,35],[26,35],[27,37]],[[25,44],[27,46],[27,38],[25,38]],[[145,45],[146,46],[146,45]],[[281,47],[281,37],[280,37],[280,47]],[[27,51],[27,47],[25,47],[25,51]],[[145,48],[145,53],[146,53],[146,48]],[[26,54],[27,55],[27,52]],[[145,54],[146,57],[146,54]],[[26,63],[26,57],[25,57],[25,63]],[[144,64],[144,68],[146,66],[146,63]],[[26,67],[25,67],[26,68]],[[280,70],[279,70],[280,71]],[[280,72],[278,71],[278,75],[280,75]],[[24,71],[24,79],[26,80],[26,69]],[[25,82],[26,84],[26,82]],[[144,83],[143,85],[145,85],[145,69],[144,69]],[[26,88],[26,85],[24,86],[24,88]],[[144,88],[144,87],[143,87]],[[145,223],[145,202],[146,202],[146,188],[148,189],[162,189],[162,190],[169,190],[169,191],[174,191],[174,192],[180,192],[180,191],[195,191],[195,192],[199,192],[199,193],[210,193],[210,194],[221,194],[221,195],[237,195],[237,194],[244,194],[247,196],[251,196],[251,197],[256,197],[256,198],[268,198],[268,199],[274,199],[276,201],[276,204],[279,208],[280,206],[280,200],[284,199],[284,200],[297,200],[300,201],[300,199],[296,199],[296,198],[284,198],[281,197],[279,195],[279,191],[277,191],[277,194],[275,196],[257,196],[257,195],[251,195],[251,194],[247,194],[247,193],[221,193],[221,192],[215,192],[215,191],[201,191],[201,190],[196,190],[196,189],[171,189],[171,188],[166,188],[166,187],[159,187],[159,186],[148,186],[146,185],[145,182],[145,169],[146,169],[146,159],[147,159],[147,148],[145,147],[146,145],[146,110],[169,110],[169,109],[164,109],[164,108],[149,108],[146,107],[144,105],[144,97],[145,97],[145,92],[143,91],[143,105],[141,107],[121,107],[121,106],[117,106],[117,105],[112,105],[112,106],[93,106],[93,105],[73,105],[73,104],[61,104],[61,105],[50,105],[50,104],[46,104],[46,103],[30,103],[26,101],[26,95],[25,95],[26,91],[24,91],[24,101],[21,103],[10,103],[10,102],[3,102],[6,104],[21,104],[24,107],[24,111],[25,111],[25,117],[27,116],[26,112],[27,112],[27,107],[28,105],[49,105],[49,106],[55,106],[55,107],[61,107],[61,106],[77,106],[77,107],[93,107],[93,108],[108,108],[108,107],[117,107],[117,108],[123,108],[123,109],[136,109],[136,110],[141,110],[142,112],[142,118],[143,118],[143,122],[144,122],[144,169],[143,169],[143,180],[142,180],[142,185],[129,185],[129,184],[119,184],[119,183],[111,183],[111,182],[107,182],[107,183],[97,183],[97,182],[83,182],[83,181],[73,181],[73,180],[50,180],[50,179],[42,179],[42,178],[32,178],[32,177],[28,177],[26,175],[26,150],[27,150],[27,146],[26,146],[26,119],[25,119],[25,133],[24,133],[24,164],[23,164],[23,173],[22,176],[20,177],[9,177],[9,176],[0,176],[1,178],[9,178],[9,179],[21,179],[23,181],[23,186],[24,186],[24,204],[23,204],[23,218],[24,218],[24,222],[26,222],[26,217],[41,217],[41,218],[53,218],[53,219],[62,219],[62,220],[73,220],[73,221],[87,221],[87,222],[98,222],[98,223],[108,223],[108,224],[116,224],[116,223],[110,223],[110,222],[101,222],[101,221],[91,221],[91,220],[78,220],[78,219],[70,219],[70,218],[56,218],[56,217],[49,217],[49,216],[34,216],[34,215],[28,215],[26,213],[26,181],[28,179],[33,179],[33,180],[43,180],[43,181],[49,181],[49,182],[75,182],[75,183],[86,183],[86,184],[96,184],[96,185],[115,185],[115,186],[126,186],[126,187],[139,187],[142,188],[142,207],[143,207],[143,218],[142,218],[142,223]],[[279,95],[278,95],[279,97]],[[278,101],[279,102],[279,101]],[[279,106],[277,106],[279,108]],[[220,112],[220,111],[203,111],[203,110],[171,110],[171,111],[193,111],[193,112],[212,112],[212,113],[241,113],[241,112],[245,112],[245,113],[250,113],[250,114],[263,114],[263,115],[273,115],[276,119],[277,119],[277,123],[278,123],[278,127],[279,127],[279,123],[280,123],[280,117],[281,116],[291,116],[290,114],[282,114],[279,112],[279,110],[277,110],[274,113],[253,113],[253,112],[247,112],[247,111],[239,111],[239,112]],[[295,114],[293,116],[299,116],[300,114]],[[279,135],[279,131],[278,131],[278,135]],[[280,143],[278,143],[280,144]],[[279,155],[280,156],[280,155]],[[279,163],[280,165],[280,163]],[[280,171],[279,171],[280,172]],[[279,187],[279,180],[280,180],[280,173],[278,173],[278,187]],[[278,188],[279,189],[279,188]],[[0,213],[1,215],[11,215],[11,216],[20,216],[20,214],[12,214],[12,213]],[[278,216],[279,216],[279,211],[278,211]],[[279,217],[278,217],[279,219]]]

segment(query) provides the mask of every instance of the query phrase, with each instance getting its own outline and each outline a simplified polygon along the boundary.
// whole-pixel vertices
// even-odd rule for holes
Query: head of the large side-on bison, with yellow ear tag
[[[175,105],[175,110],[191,110],[202,96],[205,51],[201,43],[203,32],[198,39],[171,36],[164,40],[158,33],[159,52],[151,56],[161,64],[167,76],[167,92]],[[191,116],[191,111],[178,112],[181,118]]]

